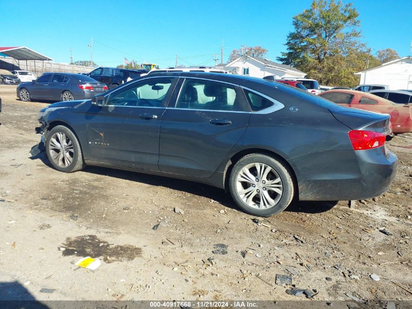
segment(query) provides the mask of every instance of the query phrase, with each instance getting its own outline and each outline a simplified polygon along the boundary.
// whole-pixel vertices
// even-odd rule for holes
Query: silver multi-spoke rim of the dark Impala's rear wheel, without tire
[[[282,180],[275,169],[267,164],[248,164],[236,176],[236,192],[249,207],[268,209],[282,197]]]

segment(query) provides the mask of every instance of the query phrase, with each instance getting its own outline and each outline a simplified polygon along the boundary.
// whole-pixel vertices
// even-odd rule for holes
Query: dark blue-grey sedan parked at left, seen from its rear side
[[[32,82],[23,82],[17,87],[21,101],[33,99],[51,101],[73,101],[90,99],[107,91],[102,82],[74,73],[44,73]]]

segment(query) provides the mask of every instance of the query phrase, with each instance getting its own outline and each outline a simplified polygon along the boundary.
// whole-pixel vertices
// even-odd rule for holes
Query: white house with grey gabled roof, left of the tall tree
[[[304,78],[306,73],[295,69],[293,66],[272,62],[268,59],[242,56],[226,64],[224,69],[233,71],[239,75],[249,75],[263,78],[268,75],[275,75],[277,79],[282,77]]]

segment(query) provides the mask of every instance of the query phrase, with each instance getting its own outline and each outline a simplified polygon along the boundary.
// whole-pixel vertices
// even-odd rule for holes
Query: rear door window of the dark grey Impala
[[[234,110],[235,87],[212,81],[186,79],[177,100],[177,108]]]

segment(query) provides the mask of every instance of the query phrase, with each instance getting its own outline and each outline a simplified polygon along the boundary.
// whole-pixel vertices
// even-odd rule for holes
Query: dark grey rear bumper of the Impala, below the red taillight
[[[298,176],[300,200],[349,201],[372,198],[387,191],[396,175],[397,157],[392,151],[385,152],[384,147],[327,151],[317,156],[316,159],[320,159],[321,163],[309,164],[312,160],[306,158],[306,165],[311,166]]]

